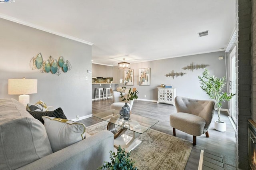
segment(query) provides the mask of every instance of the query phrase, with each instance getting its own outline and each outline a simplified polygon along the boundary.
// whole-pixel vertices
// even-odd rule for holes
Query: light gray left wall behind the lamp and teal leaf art
[[[92,46],[56,36],[0,18],[0,98],[8,95],[8,79],[38,79],[38,93],[30,95],[30,103],[44,101],[54,109],[61,107],[68,119],[92,114]],[[72,69],[61,75],[30,69],[30,59],[41,52],[70,61]],[[85,76],[88,80],[85,80]]]

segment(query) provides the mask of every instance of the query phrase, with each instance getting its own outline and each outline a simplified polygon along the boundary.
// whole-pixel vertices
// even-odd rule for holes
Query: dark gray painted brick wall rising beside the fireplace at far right
[[[254,41],[252,40],[252,30],[254,24],[252,24],[252,19],[255,18],[252,14],[254,13],[254,5],[256,1],[253,0],[238,0],[238,6],[236,8],[236,14],[238,14],[238,55],[237,55],[237,68],[238,71],[236,75],[237,79],[237,89],[236,94],[237,104],[236,112],[238,117],[236,120],[237,123],[237,132],[236,132],[236,142],[238,148],[238,167],[241,169],[248,169],[248,128],[247,120],[251,119],[252,113],[256,110],[252,110],[252,104],[256,102],[256,97],[253,93],[256,94],[256,83],[254,82],[253,77],[256,77],[256,72],[252,72],[252,67],[254,62],[252,60],[253,48],[252,45]],[[256,33],[256,32],[255,32]],[[256,50],[255,50],[256,52]],[[254,76],[252,76],[254,75]],[[256,121],[255,121],[256,122]]]

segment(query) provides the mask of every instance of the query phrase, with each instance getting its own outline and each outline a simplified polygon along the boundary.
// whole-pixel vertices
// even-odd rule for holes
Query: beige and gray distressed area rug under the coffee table
[[[88,134],[107,129],[107,122],[86,127]],[[132,132],[125,132],[132,136]],[[142,143],[131,151],[139,170],[184,170],[192,149],[192,142],[171,136],[157,130],[148,129],[140,135]]]

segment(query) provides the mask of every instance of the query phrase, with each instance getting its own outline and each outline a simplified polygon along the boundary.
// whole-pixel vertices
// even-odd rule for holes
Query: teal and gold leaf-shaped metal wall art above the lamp
[[[68,70],[71,70],[72,66],[68,60],[64,61],[62,56],[59,57],[58,61],[52,56],[47,61],[44,61],[42,54],[38,53],[36,57],[30,60],[30,68],[32,70],[39,69],[41,73],[52,72],[52,74],[60,75],[62,71],[66,73]]]

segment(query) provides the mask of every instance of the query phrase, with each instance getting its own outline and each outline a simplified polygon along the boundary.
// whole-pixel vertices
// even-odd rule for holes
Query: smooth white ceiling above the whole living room
[[[234,30],[235,1],[16,0],[1,3],[0,17],[91,42],[93,63],[117,65],[219,51]]]

